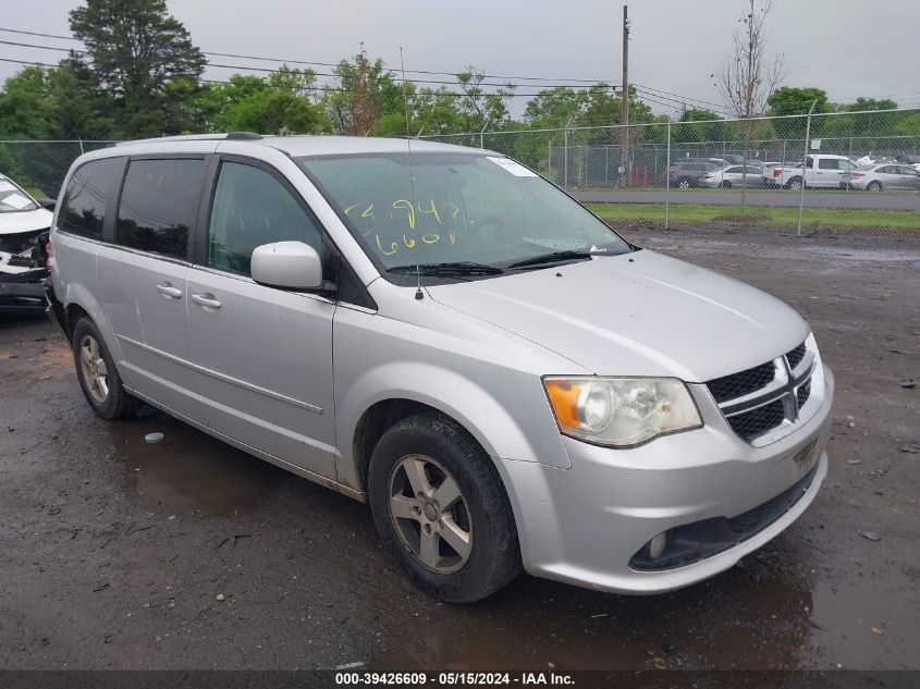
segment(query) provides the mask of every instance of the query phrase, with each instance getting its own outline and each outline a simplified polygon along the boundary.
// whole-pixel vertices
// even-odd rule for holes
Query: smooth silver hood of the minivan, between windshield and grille
[[[599,376],[704,382],[774,359],[809,332],[778,299],[648,249],[428,292]]]

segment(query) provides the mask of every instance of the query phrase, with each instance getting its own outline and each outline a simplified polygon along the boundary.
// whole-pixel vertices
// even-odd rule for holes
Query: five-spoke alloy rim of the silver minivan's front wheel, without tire
[[[416,559],[438,574],[461,569],[473,553],[473,525],[456,479],[431,457],[407,455],[389,488],[393,526]]]

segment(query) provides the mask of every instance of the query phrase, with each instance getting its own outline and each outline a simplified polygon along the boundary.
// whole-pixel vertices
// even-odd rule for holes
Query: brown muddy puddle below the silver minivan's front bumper
[[[792,668],[809,652],[807,585],[756,582],[738,569],[653,598],[529,578],[507,591],[473,608],[420,613],[406,622],[405,638],[375,652],[369,667]]]

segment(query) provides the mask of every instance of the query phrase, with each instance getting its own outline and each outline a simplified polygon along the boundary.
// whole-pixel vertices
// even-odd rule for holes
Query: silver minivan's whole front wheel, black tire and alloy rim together
[[[438,495],[445,493],[455,497],[442,506]],[[492,460],[440,414],[408,417],[383,433],[370,459],[368,500],[387,551],[429,595],[474,603],[520,571],[514,516]],[[452,546],[463,538],[463,547]]]

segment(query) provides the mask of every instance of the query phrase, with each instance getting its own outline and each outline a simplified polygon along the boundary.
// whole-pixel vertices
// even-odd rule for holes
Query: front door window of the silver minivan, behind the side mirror
[[[244,163],[221,163],[208,224],[208,266],[249,275],[249,260],[257,246],[304,242],[322,256],[321,236],[271,174]]]

